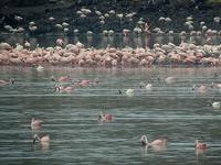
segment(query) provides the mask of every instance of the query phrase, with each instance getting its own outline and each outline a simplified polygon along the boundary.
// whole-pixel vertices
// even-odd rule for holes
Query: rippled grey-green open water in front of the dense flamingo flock
[[[221,68],[83,69],[50,67],[1,67],[0,79],[15,78],[0,87],[0,164],[200,164],[221,162],[221,91],[192,90],[192,85],[220,82]],[[55,92],[50,77],[70,75],[73,80],[98,78],[96,86]],[[176,76],[177,82],[162,81]],[[158,81],[157,77],[161,80]],[[150,80],[152,90],[139,88]],[[125,90],[135,89],[128,97]],[[123,95],[118,95],[118,89]],[[99,111],[112,113],[112,122],[99,123]],[[39,132],[50,135],[49,146],[32,144],[31,118],[44,120]],[[162,151],[145,148],[140,136],[168,140]],[[194,140],[207,142],[206,153],[196,153]]]

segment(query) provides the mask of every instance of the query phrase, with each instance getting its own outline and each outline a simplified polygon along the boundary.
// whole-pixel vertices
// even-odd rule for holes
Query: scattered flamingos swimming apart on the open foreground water
[[[39,69],[38,72],[42,72],[42,70]],[[218,76],[218,74],[214,74],[214,76]],[[55,81],[55,85],[54,85],[55,92],[72,92],[73,89],[75,89],[75,88],[95,86],[101,82],[98,79],[94,79],[94,80],[83,79],[83,80],[77,80],[77,81],[73,82],[72,78],[70,76],[62,76],[62,77],[52,76],[51,80]],[[160,81],[161,79],[158,77],[158,80]],[[169,76],[166,79],[164,79],[162,81],[165,84],[175,84],[177,80],[178,80],[177,77]],[[3,86],[8,86],[8,85],[13,85],[14,82],[15,82],[15,80],[13,78],[11,78],[10,80],[0,80],[0,86],[3,87]],[[61,86],[61,85],[57,86],[57,84],[60,84],[60,82],[72,82],[72,85],[71,86]],[[145,84],[144,81],[140,81],[139,88],[145,88],[147,90],[151,90],[152,84],[151,82]],[[199,87],[193,86],[192,90],[200,92],[200,94],[204,94],[204,92],[208,92],[210,90],[210,88],[220,89],[221,84],[212,84],[211,86],[201,85]],[[118,95],[123,95],[123,94],[125,94],[128,97],[131,97],[135,95],[135,89],[126,89],[126,90],[118,89]],[[212,102],[210,106],[214,109],[220,109],[221,102],[220,101]],[[103,111],[99,112],[98,118],[97,118],[97,121],[102,122],[102,123],[112,122],[113,120],[114,120],[113,114],[104,114]],[[34,119],[34,118],[31,119],[31,129],[33,131],[32,132],[33,133],[33,145],[36,142],[39,142],[41,144],[41,146],[49,146],[50,141],[51,141],[49,134],[43,135],[43,134],[34,133],[34,132],[36,132],[34,130],[39,130],[42,128],[42,123],[43,123],[43,120]],[[164,150],[168,144],[166,139],[157,139],[152,142],[149,142],[147,140],[146,135],[141,135],[140,142],[144,147],[151,147],[157,151]],[[194,147],[198,153],[199,152],[204,153],[209,146],[207,143],[201,143],[198,140],[196,140]]]

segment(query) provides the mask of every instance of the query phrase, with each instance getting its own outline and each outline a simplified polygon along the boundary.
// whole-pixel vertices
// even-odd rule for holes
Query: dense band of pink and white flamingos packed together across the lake
[[[154,47],[87,48],[81,42],[64,45],[56,40],[54,47],[31,50],[27,41],[15,47],[0,43],[0,65],[18,66],[71,66],[71,67],[151,67],[152,65],[221,66],[220,45],[196,45],[181,42]]]

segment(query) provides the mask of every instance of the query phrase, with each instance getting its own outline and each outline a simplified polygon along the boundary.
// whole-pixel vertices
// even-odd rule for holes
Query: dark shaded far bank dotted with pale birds
[[[134,32],[135,28],[138,28],[135,33],[139,33],[146,22],[151,33],[209,29],[220,33],[221,0],[1,0],[1,3],[2,33],[108,35],[124,30]],[[207,29],[202,30],[203,25]]]

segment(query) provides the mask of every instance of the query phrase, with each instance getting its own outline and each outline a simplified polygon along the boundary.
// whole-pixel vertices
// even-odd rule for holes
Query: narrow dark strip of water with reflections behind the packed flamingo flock
[[[207,44],[207,36],[182,36],[180,37],[178,34],[175,35],[131,35],[131,36],[103,36],[99,34],[94,34],[92,36],[87,35],[78,35],[78,36],[67,36],[67,35],[36,35],[36,36],[28,36],[23,34],[2,34],[0,35],[0,42],[8,42],[12,45],[15,45],[15,43],[23,44],[25,40],[28,40],[31,43],[32,48],[34,48],[38,44],[39,46],[48,47],[48,46],[55,46],[56,38],[63,38],[65,45],[66,44],[75,44],[77,41],[82,42],[85,47],[96,47],[96,48],[104,48],[107,45],[113,47],[152,47],[155,43],[159,44],[168,44],[173,43],[176,45],[179,45],[181,40],[183,40],[187,43],[194,43],[197,45],[203,45]],[[212,44],[219,45],[221,44],[221,36],[214,35],[211,37]]]

